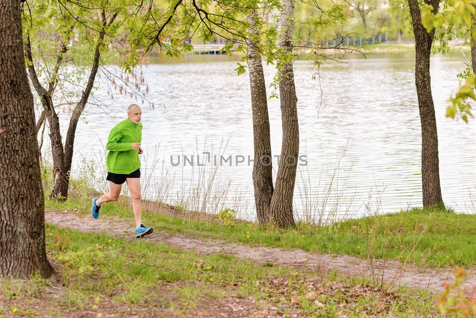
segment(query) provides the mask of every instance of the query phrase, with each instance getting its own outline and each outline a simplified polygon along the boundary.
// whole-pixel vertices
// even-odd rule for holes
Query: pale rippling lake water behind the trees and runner
[[[234,208],[239,217],[254,219],[248,165],[248,156],[253,157],[249,78],[248,73],[236,75],[238,60],[219,55],[151,58],[143,68],[150,89],[147,98],[156,105],[152,109],[146,101],[142,112],[146,197],[193,209],[206,205],[209,212]],[[353,55],[345,62],[321,67],[322,100],[319,82],[312,79],[312,62],[294,64],[300,154],[307,156],[307,166],[297,172],[296,216],[349,217],[421,206],[414,53],[368,54],[367,59]],[[476,193],[476,119],[466,124],[445,117],[448,99],[458,87],[456,74],[464,64],[455,53],[453,59],[435,56],[431,65],[443,198],[453,209],[471,213],[476,206],[471,196]],[[273,75],[274,68],[265,67],[267,83]],[[100,107],[88,106],[88,123],[78,125],[73,167],[80,173],[82,159],[94,160],[93,174],[104,187],[109,131],[126,118],[127,106],[135,100],[118,91],[111,99],[107,85],[100,80],[98,85],[95,97]],[[268,108],[272,153],[278,155],[279,100],[270,99]],[[211,153],[210,162],[204,161],[204,151]],[[205,166],[197,165],[197,154]],[[194,155],[194,165],[184,166],[181,158],[180,165],[173,166],[170,157],[177,163],[181,155]],[[232,166],[214,166],[213,155],[231,155]],[[245,162],[236,165],[236,156]],[[276,159],[276,173],[275,163]]]

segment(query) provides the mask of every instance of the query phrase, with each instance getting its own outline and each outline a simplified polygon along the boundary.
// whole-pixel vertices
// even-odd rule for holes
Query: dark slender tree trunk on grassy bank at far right
[[[438,10],[439,0],[426,0],[434,12]],[[421,121],[421,174],[423,188],[423,206],[443,202],[440,187],[438,135],[436,133],[435,106],[430,85],[430,54],[435,29],[430,33],[421,23],[420,8],[417,0],[409,0],[410,14],[415,33],[415,84],[417,86],[418,106]]]

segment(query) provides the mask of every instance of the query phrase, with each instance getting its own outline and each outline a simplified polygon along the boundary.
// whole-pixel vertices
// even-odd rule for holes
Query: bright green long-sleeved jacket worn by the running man
[[[140,167],[139,150],[132,150],[133,142],[142,140],[142,123],[134,124],[129,118],[122,120],[109,133],[106,149],[108,171],[129,174]]]

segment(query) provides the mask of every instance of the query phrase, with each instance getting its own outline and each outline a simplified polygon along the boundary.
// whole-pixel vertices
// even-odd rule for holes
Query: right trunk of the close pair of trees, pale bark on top
[[[278,21],[278,48],[284,54],[292,54],[292,31],[294,0],[282,0],[283,10]],[[297,97],[294,85],[292,59],[282,64],[279,80],[279,100],[283,141],[279,159],[278,175],[271,198],[270,214],[279,227],[294,227],[293,193],[296,181],[297,157],[299,154],[299,126],[297,122]]]

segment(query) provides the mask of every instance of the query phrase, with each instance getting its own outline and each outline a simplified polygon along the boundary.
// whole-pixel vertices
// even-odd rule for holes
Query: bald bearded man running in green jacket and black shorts
[[[122,120],[109,133],[106,149],[109,150],[106,159],[110,192],[92,200],[91,214],[94,219],[99,217],[101,204],[119,200],[119,194],[124,181],[129,187],[132,198],[132,210],[136,219],[136,238],[152,233],[151,227],[145,227],[141,222],[142,202],[140,201],[140,159],[138,154],[144,151],[140,148],[142,140],[142,110],[139,105],[132,104],[127,109],[128,118]]]

